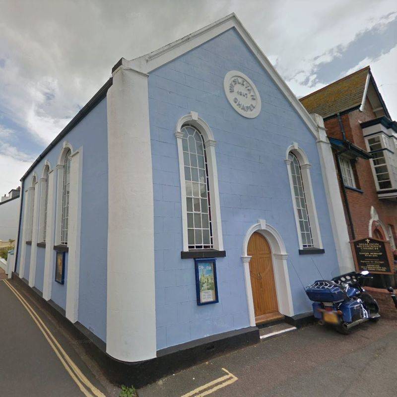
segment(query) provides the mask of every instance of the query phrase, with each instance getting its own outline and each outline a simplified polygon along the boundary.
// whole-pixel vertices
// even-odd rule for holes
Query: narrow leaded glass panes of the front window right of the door
[[[309,211],[307,209],[307,201],[305,188],[303,186],[301,166],[299,160],[293,153],[289,153],[288,159],[291,160],[292,185],[294,188],[295,206],[298,212],[299,229],[302,238],[303,248],[313,247],[312,229],[310,226]]]

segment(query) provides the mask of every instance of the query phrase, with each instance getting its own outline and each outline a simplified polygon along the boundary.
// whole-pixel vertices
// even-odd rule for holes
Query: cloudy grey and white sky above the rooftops
[[[370,65],[397,118],[396,0],[0,0],[0,194],[121,58],[235,12],[297,96]]]

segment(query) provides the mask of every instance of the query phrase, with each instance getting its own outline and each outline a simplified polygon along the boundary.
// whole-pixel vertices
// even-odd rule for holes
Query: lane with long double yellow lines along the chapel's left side
[[[0,396],[107,396],[65,335],[19,296],[29,311],[12,283],[0,281]]]

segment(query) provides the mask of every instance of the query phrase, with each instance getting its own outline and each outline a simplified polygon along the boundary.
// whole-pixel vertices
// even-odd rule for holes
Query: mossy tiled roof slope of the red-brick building
[[[370,76],[370,67],[366,66],[299,100],[309,113],[323,118],[360,107]]]

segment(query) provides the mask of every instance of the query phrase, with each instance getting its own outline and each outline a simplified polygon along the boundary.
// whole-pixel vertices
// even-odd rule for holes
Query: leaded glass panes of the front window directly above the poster
[[[182,147],[185,167],[189,249],[213,248],[208,164],[201,133],[184,125]]]

